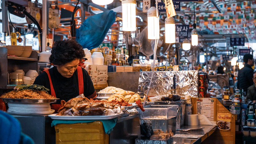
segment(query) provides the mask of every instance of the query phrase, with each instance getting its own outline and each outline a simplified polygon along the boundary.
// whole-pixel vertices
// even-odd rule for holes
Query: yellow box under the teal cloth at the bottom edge
[[[102,122],[57,124],[56,144],[108,144],[108,134],[105,134]]]

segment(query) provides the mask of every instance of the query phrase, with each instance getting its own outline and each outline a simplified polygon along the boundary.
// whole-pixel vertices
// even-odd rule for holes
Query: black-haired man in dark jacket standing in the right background
[[[238,82],[237,88],[241,88],[243,92],[247,94],[247,88],[253,85],[253,69],[254,66],[254,59],[253,55],[246,54],[243,57],[244,67],[238,71]],[[246,95],[245,94],[245,95]]]

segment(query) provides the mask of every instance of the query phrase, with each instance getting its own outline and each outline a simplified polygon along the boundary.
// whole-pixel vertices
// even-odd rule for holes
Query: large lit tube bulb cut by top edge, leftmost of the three
[[[123,31],[136,31],[136,0],[122,0]]]

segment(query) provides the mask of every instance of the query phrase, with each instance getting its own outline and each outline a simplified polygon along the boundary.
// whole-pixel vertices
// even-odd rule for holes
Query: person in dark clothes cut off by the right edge
[[[246,104],[254,104],[256,102],[256,71],[253,73],[253,82],[254,84],[248,88],[246,95]]]

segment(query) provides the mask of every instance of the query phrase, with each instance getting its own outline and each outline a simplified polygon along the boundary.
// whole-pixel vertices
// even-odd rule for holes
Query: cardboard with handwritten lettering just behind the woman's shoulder
[[[93,81],[95,89],[104,89],[108,87],[108,66],[107,65],[89,65],[88,73]]]

